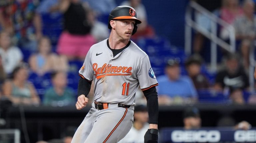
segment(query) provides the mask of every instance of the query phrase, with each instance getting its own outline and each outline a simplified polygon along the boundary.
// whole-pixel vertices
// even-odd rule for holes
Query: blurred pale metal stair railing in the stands
[[[206,30],[204,27],[200,26],[197,21],[193,20],[193,16],[195,14],[202,14],[210,20],[210,31]],[[227,43],[223,39],[219,38],[217,35],[217,27],[220,25],[221,27],[225,27],[228,31],[228,37],[230,43]],[[199,4],[194,1],[190,1],[185,16],[185,52],[186,54],[191,54],[192,48],[192,29],[201,33],[211,40],[211,71],[217,70],[217,45],[221,48],[234,53],[235,52],[235,30],[233,26],[223,21],[210,11],[206,10]]]

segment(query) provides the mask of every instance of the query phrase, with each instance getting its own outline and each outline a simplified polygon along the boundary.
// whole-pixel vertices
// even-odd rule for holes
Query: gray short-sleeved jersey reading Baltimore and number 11
[[[94,44],[79,75],[94,80],[94,100],[101,103],[135,105],[135,93],[157,86],[148,55],[134,42],[113,57],[107,39]]]

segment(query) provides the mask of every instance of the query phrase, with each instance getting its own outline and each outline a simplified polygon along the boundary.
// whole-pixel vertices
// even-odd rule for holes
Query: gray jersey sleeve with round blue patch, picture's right
[[[153,72],[153,69],[151,68],[148,56],[145,56],[139,62],[137,77],[142,91],[158,85],[156,76]]]

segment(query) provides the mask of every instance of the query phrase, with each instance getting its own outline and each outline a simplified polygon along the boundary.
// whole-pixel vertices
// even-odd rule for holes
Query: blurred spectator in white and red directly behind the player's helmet
[[[155,36],[154,29],[150,25],[148,25],[147,12],[145,6],[141,3],[141,0],[127,0],[121,3],[121,5],[133,7],[136,10],[137,18],[142,21],[142,23],[138,26],[136,34],[132,36],[133,39],[137,39],[139,37]]]

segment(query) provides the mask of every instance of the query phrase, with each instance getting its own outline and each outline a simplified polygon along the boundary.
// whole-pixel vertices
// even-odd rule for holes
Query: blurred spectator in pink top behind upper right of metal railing
[[[242,8],[239,6],[238,0],[222,0],[222,7],[220,9],[220,18],[232,24],[233,21],[243,14]],[[228,27],[222,27],[220,31],[220,36],[224,40],[228,39]]]

